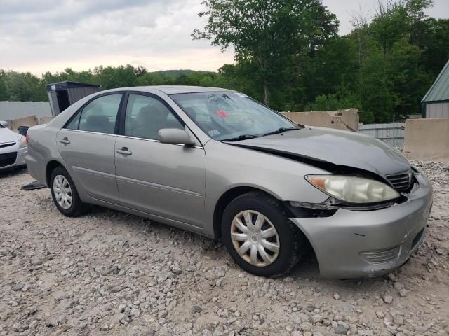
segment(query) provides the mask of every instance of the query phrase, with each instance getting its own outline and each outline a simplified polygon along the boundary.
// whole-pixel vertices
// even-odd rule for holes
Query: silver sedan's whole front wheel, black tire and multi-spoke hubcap
[[[279,201],[264,193],[246,193],[229,203],[222,238],[234,261],[257,276],[281,276],[300,259],[300,232]]]

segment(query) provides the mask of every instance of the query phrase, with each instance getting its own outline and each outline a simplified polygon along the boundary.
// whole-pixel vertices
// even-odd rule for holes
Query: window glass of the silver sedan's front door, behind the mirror
[[[163,128],[185,127],[159,99],[130,94],[126,106],[125,135],[143,139],[159,139]]]

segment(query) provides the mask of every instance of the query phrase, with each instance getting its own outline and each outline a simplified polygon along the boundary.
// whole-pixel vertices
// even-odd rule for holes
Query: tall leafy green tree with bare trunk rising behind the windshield
[[[234,48],[237,62],[256,65],[264,103],[269,105],[270,88],[289,58],[311,52],[337,33],[338,22],[319,0],[206,0],[208,17],[194,39],[209,39],[212,45]]]

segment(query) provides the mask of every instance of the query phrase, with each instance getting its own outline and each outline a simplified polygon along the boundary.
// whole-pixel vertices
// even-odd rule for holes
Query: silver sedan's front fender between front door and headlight
[[[263,190],[278,200],[321,203],[328,199],[304,180],[307,174],[326,170],[277,155],[208,141],[206,151],[206,199],[203,233],[214,236],[215,206],[228,190],[250,187]]]

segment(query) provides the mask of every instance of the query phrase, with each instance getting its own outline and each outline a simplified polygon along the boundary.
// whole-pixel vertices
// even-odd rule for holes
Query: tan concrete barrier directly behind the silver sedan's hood
[[[281,113],[295,123],[302,125],[330,127],[347,131],[358,130],[358,109]]]

